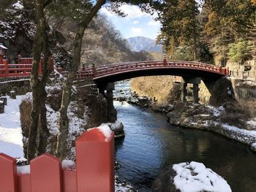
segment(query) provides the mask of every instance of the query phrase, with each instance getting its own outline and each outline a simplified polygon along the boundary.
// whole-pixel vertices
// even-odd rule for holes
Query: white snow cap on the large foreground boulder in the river
[[[181,192],[229,192],[230,185],[222,177],[203,164],[192,161],[189,163],[174,164],[176,172],[173,184]]]

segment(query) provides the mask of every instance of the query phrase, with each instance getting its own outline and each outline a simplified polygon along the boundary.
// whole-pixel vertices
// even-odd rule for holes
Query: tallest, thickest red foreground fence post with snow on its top
[[[114,134],[109,139],[99,128],[84,132],[75,142],[78,192],[113,192]]]

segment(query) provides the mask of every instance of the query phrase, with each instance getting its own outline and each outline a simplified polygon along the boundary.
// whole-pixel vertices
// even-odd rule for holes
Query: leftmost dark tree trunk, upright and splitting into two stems
[[[46,32],[46,20],[45,20],[45,6],[44,0],[36,0],[35,8],[37,15],[37,32],[34,37],[33,42],[33,64],[31,70],[31,91],[32,91],[32,110],[31,110],[31,126],[29,129],[29,143],[27,149],[27,159],[28,162],[31,161],[32,158],[36,155],[36,150],[39,153],[45,152],[47,139],[48,138],[48,129],[46,122],[46,109],[45,109],[45,101],[46,101],[46,92],[45,85],[48,79],[48,61],[50,58],[50,51],[48,47],[48,35]],[[43,64],[43,73],[41,80],[39,80],[38,69],[41,58],[41,53],[45,53],[45,60]],[[39,127],[39,117],[41,120],[41,129],[39,138],[41,142],[37,147],[37,128]],[[42,146],[41,146],[42,145]]]

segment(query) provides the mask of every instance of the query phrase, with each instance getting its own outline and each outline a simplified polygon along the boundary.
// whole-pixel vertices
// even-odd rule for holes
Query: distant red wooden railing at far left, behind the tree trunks
[[[31,74],[33,58],[21,58],[18,55],[18,64],[9,64],[7,59],[4,59],[0,55],[0,78],[1,77],[26,77]],[[38,73],[42,74],[42,63],[41,58]],[[50,72],[53,72],[53,59],[50,59],[49,64]]]

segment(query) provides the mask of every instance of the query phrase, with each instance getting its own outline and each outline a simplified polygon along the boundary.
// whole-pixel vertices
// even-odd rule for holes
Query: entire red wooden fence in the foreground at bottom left
[[[18,174],[15,158],[0,153],[1,192],[113,192],[114,139],[98,128],[76,141],[76,169],[61,168],[58,158],[45,153],[34,158],[30,174]]]

